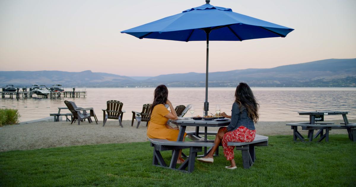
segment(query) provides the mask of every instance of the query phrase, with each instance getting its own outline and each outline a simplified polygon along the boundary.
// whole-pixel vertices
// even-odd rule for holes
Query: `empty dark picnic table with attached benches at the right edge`
[[[354,125],[349,123],[347,120],[346,111],[309,111],[309,112],[298,112],[299,115],[309,115],[309,122],[299,122],[299,123],[287,123],[287,126],[291,126],[293,129],[293,140],[297,141],[299,138],[301,141],[304,141],[304,137],[298,132],[298,126],[302,127],[302,130],[308,130],[308,138],[309,142],[313,141],[314,130],[319,130],[314,138],[320,135],[319,142],[325,138],[325,141],[329,141],[329,131],[331,129],[346,129],[349,134],[349,139],[354,140],[353,132],[354,132]],[[335,125],[332,122],[315,122],[316,117],[320,117],[324,120],[325,115],[342,115],[344,119],[344,123],[340,125]],[[325,134],[324,134],[325,129]]]

